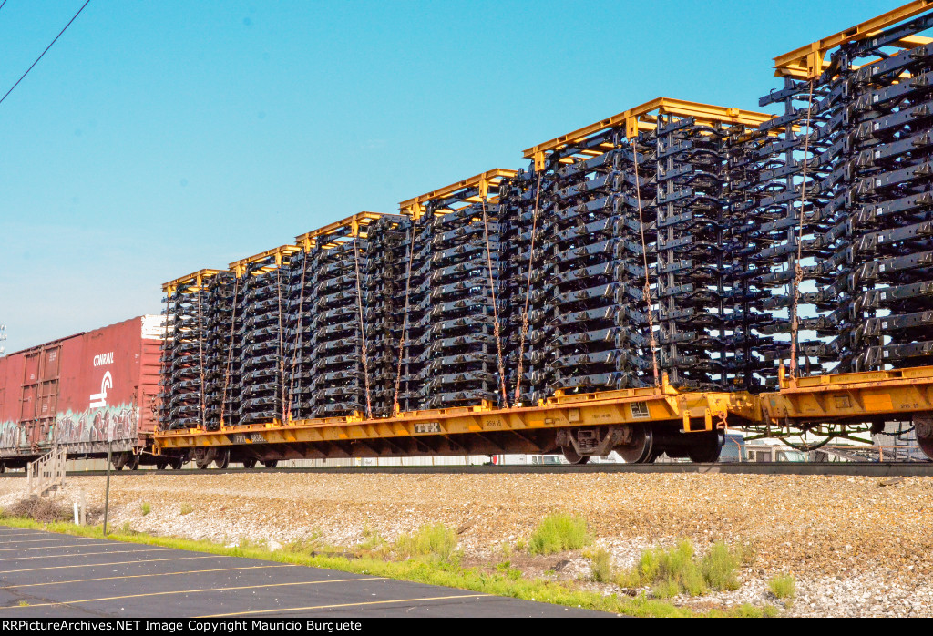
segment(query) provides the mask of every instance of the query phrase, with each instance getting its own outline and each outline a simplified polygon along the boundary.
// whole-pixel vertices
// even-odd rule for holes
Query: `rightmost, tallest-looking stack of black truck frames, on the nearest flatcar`
[[[771,357],[802,374],[933,361],[933,47],[904,48],[931,25],[844,43],[810,77],[779,68],[760,101],[785,112],[763,127],[756,213],[773,236],[753,259]]]

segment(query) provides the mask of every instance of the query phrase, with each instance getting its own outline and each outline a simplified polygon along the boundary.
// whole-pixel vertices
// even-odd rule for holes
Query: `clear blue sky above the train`
[[[0,95],[82,4],[7,1]],[[655,97],[758,109],[775,55],[900,4],[91,0],[0,104],[7,353]]]

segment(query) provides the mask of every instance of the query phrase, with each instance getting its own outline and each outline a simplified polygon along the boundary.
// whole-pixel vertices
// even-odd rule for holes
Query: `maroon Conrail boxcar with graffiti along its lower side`
[[[158,420],[164,318],[139,316],[0,357],[0,462],[53,447],[138,462]]]

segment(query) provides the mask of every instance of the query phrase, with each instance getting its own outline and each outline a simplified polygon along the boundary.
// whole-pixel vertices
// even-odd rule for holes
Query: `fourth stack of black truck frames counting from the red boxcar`
[[[409,287],[415,333],[402,362],[408,393],[410,369],[418,369],[418,408],[507,403],[498,189],[513,174],[489,171],[401,204],[421,241],[412,259],[417,284]]]

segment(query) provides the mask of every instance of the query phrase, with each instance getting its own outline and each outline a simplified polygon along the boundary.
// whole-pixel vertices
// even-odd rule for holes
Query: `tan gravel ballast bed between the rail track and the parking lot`
[[[25,494],[25,479],[0,477],[0,506]],[[103,505],[104,477],[68,477],[63,500],[78,491]],[[149,507],[143,514],[144,506]],[[182,514],[185,511],[186,514]],[[189,512],[188,512],[189,511]],[[797,597],[784,615],[933,615],[933,478],[745,475],[115,475],[114,527],[226,545],[270,546],[315,538],[355,546],[378,532],[389,542],[426,523],[458,532],[467,565],[510,560],[526,576],[587,583],[580,551],[523,556],[537,523],[551,512],[584,516],[616,568],[641,551],[691,539],[703,553],[714,541],[754,555],[742,587],[674,602],[697,609],[785,601],[768,591],[792,574]]]

